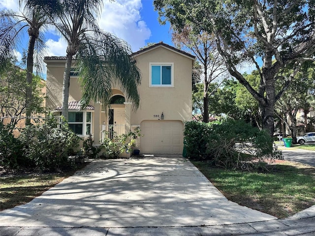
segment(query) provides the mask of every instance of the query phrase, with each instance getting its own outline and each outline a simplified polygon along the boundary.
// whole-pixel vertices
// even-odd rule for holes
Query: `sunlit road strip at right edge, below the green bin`
[[[284,160],[297,161],[304,164],[315,166],[315,151],[296,149],[296,148],[281,148],[284,155]]]

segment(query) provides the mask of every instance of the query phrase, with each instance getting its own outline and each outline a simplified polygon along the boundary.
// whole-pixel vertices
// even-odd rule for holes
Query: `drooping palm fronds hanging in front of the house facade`
[[[140,71],[131,56],[130,47],[125,41],[103,32],[98,38],[85,37],[77,55],[82,83],[82,103],[91,100],[109,106],[112,88],[118,83],[137,109],[140,103],[138,85],[141,83]]]

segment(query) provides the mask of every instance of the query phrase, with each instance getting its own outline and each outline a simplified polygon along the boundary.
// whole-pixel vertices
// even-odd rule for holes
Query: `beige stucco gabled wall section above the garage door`
[[[191,120],[191,67],[192,59],[158,47],[136,56],[142,73],[139,86],[140,108],[131,114],[131,124],[142,120],[157,120],[155,115],[168,120]],[[150,87],[150,62],[174,63],[174,87]]]

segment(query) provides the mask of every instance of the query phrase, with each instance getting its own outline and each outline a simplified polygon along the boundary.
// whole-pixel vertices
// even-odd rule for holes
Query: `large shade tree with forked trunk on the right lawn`
[[[314,59],[313,0],[154,0],[162,23],[214,33],[229,73],[258,101],[263,128],[274,131],[274,107],[306,60]],[[262,65],[260,60],[262,59]],[[240,73],[240,60],[255,65],[259,87]],[[290,66],[287,77],[278,72]],[[276,84],[285,81],[276,92]]]

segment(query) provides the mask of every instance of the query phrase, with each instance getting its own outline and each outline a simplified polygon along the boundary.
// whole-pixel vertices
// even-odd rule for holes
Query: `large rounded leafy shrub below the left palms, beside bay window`
[[[53,171],[70,165],[68,153],[79,146],[80,138],[63,119],[49,115],[43,124],[29,125],[19,137],[29,164],[42,170]]]

